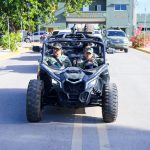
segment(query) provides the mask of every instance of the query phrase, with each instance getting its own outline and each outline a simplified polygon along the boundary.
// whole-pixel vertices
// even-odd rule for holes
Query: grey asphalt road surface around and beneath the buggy
[[[28,123],[26,90],[38,57],[26,53],[0,62],[0,150],[150,149],[150,55],[131,49],[107,56],[119,91],[119,114],[111,124],[103,123],[99,107],[47,107],[40,123]]]

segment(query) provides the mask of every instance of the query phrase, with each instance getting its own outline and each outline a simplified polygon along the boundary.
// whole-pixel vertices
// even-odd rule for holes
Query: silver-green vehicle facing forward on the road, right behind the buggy
[[[109,48],[114,48],[116,50],[124,50],[125,53],[128,52],[129,40],[126,33],[122,30],[109,29],[105,32],[104,42],[107,50]]]

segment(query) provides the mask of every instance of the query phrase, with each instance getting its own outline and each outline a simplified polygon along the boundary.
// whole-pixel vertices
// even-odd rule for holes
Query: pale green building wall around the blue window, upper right
[[[126,4],[127,10],[116,11],[115,4]],[[135,25],[133,6],[134,0],[107,0],[106,27],[124,28],[127,34],[132,35]]]

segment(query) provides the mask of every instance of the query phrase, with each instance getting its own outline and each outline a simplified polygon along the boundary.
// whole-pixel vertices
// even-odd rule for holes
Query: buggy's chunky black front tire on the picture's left
[[[26,116],[29,122],[39,122],[42,118],[43,91],[43,81],[30,80],[26,98]]]

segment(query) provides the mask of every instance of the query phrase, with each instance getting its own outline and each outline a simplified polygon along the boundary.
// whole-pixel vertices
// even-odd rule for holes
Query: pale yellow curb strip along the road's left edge
[[[4,55],[0,56],[0,61],[13,58],[15,56],[18,56],[18,55],[23,54],[23,53],[27,53],[29,51],[31,51],[31,48],[20,49],[17,52],[8,52],[7,54],[4,54]]]

